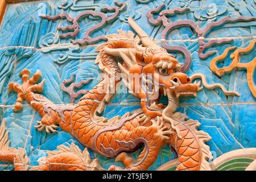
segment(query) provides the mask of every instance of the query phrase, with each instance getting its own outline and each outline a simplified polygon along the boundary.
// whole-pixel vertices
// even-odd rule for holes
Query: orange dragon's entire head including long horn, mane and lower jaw
[[[196,92],[201,90],[201,83],[193,84],[181,72],[183,65],[173,55],[150,39],[133,19],[129,18],[128,22],[138,35],[134,38],[131,31],[110,35],[108,38],[113,40],[115,46],[119,44],[120,48],[110,48],[106,46],[110,43],[107,43],[104,44],[104,51],[122,58],[122,61],[118,61],[118,67],[123,83],[130,93],[141,98],[144,113],[150,118],[162,115],[164,105],[156,104],[162,94],[174,102],[180,96],[196,96]]]

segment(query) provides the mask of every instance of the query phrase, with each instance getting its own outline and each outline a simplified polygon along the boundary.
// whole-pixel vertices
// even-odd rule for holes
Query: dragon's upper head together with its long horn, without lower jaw
[[[145,75],[146,80],[151,75],[151,80],[154,81],[152,83],[154,92],[158,92],[159,97],[162,93],[169,98],[196,96],[196,92],[201,90],[200,82],[192,84],[191,79],[181,72],[183,64],[179,63],[166,49],[158,46],[154,40],[150,39],[132,18],[129,18],[128,22],[133,30],[137,32],[142,43],[142,45],[135,47],[135,57],[138,65],[130,67],[129,73]]]

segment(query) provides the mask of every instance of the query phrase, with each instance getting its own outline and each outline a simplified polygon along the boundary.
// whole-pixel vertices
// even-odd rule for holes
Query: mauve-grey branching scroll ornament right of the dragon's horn
[[[197,25],[195,22],[193,22],[192,20],[178,20],[176,22],[168,22],[168,18],[167,15],[175,15],[177,13],[185,13],[187,11],[189,11],[188,7],[185,7],[184,9],[180,9],[179,7],[177,7],[174,10],[162,10],[165,7],[165,5],[161,5],[156,9],[152,9],[150,11],[148,11],[147,13],[147,18],[148,21],[153,24],[154,26],[157,26],[159,24],[163,24],[164,30],[162,32],[162,46],[168,50],[171,51],[179,51],[179,52],[183,52],[185,55],[185,65],[184,65],[184,70],[187,70],[187,68],[189,67],[189,64],[191,62],[191,55],[188,52],[187,49],[185,49],[184,47],[180,47],[180,46],[169,46],[167,44],[166,41],[166,36],[168,34],[168,32],[174,30],[175,28],[179,28],[179,27],[191,27],[197,34],[197,38],[199,39],[199,57],[201,59],[207,59],[207,57],[213,55],[214,53],[216,53],[216,51],[208,51],[207,53],[204,53],[204,50],[207,48],[212,47],[213,45],[218,45],[218,44],[224,44],[224,43],[230,43],[233,41],[233,39],[229,39],[229,38],[225,38],[225,39],[220,39],[220,40],[210,40],[209,42],[205,42],[204,38],[209,34],[209,32],[213,29],[213,28],[217,28],[220,27],[226,23],[236,23],[236,22],[250,22],[253,20],[256,20],[255,17],[245,17],[245,16],[238,16],[237,18],[231,18],[230,16],[225,16],[224,18],[222,18],[221,20],[218,20],[218,22],[212,22],[209,23],[207,25],[207,27],[205,28],[200,28],[199,25]],[[161,11],[162,10],[162,11]],[[154,15],[159,13],[159,16],[157,19],[154,19]]]

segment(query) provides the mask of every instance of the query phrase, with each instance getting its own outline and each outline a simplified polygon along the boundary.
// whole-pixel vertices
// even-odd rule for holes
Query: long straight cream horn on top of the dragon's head
[[[142,30],[142,28],[139,27],[137,23],[135,23],[133,18],[129,17],[128,23],[131,26],[131,28],[133,28],[133,30],[137,32],[139,38],[141,38],[141,42],[144,47],[152,47],[155,50],[159,50],[162,48],[158,46],[158,44],[156,44],[154,40],[150,39],[150,37],[146,34],[146,32],[144,32],[144,30]]]

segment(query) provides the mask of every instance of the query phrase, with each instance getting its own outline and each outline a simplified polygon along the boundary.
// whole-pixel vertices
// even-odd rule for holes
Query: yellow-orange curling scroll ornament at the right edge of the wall
[[[224,76],[225,73],[232,72],[235,68],[245,69],[247,71],[247,82],[248,82],[249,88],[253,96],[256,98],[256,86],[253,81],[255,67],[256,67],[256,57],[254,57],[254,59],[248,63],[240,63],[241,55],[245,55],[253,51],[255,48],[255,44],[256,44],[256,39],[252,40],[250,44],[245,48],[236,49],[237,48],[236,46],[226,48],[224,53],[222,53],[222,55],[215,57],[210,62],[210,69],[214,73],[216,73],[218,76]],[[236,51],[234,51],[234,53],[230,55],[230,58],[232,59],[232,63],[228,67],[218,68],[217,63],[220,61],[224,61],[228,56],[228,53],[234,49],[236,49]]]

